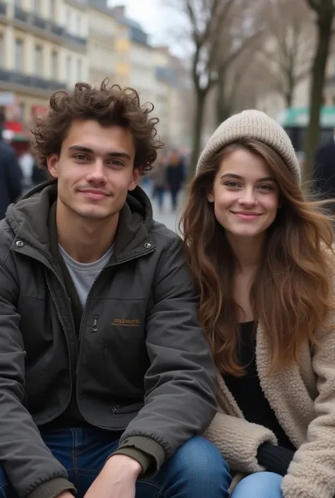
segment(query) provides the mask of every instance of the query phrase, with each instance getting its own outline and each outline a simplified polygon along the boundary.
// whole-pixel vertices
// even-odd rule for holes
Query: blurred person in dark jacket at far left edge
[[[4,116],[0,116],[0,220],[8,206],[16,202],[23,190],[23,174],[13,148],[2,138]]]

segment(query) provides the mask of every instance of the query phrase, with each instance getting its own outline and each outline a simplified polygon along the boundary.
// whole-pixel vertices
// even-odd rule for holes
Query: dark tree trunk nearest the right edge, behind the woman
[[[312,66],[312,85],[310,90],[310,123],[307,127],[305,143],[304,179],[312,177],[315,152],[319,146],[320,112],[322,107],[322,94],[331,41],[331,25],[333,16],[319,14],[318,37],[315,59]]]

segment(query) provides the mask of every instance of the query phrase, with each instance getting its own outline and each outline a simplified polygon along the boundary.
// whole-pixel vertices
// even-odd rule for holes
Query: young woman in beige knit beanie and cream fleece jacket
[[[334,253],[320,205],[302,194],[285,131],[254,110],[219,126],[190,188],[184,249],[218,367],[206,436],[235,474],[232,498],[335,494]]]

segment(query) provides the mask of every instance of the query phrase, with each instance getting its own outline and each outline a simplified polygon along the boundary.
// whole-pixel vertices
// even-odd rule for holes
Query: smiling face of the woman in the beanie
[[[208,201],[230,235],[257,237],[274,223],[279,189],[264,159],[241,148],[222,160]]]

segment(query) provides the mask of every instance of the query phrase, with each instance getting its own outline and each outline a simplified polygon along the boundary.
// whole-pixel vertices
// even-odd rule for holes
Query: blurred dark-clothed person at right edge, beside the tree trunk
[[[334,138],[319,147],[315,155],[313,187],[325,199],[335,199],[335,129]],[[335,207],[330,205],[332,211]]]

